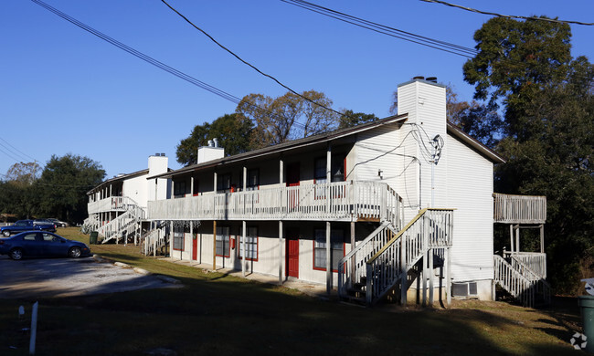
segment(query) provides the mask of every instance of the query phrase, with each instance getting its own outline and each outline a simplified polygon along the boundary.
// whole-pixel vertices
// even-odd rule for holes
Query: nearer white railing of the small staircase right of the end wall
[[[512,297],[522,302],[525,307],[533,307],[536,294],[535,282],[505,261],[504,257],[494,255],[493,258],[495,282],[507,290]]]

